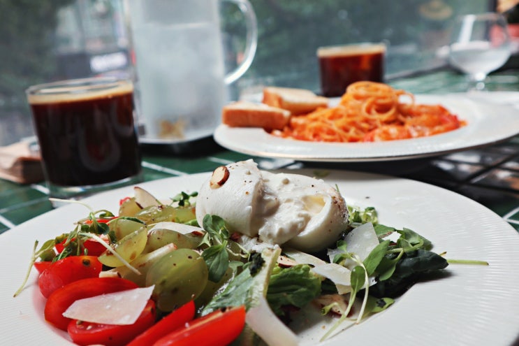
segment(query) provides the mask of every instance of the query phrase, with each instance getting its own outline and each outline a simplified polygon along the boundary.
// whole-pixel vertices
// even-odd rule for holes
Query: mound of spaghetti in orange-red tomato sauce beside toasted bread
[[[414,95],[378,82],[355,82],[339,104],[291,117],[275,136],[322,142],[367,142],[441,134],[465,125],[441,105],[416,104]]]

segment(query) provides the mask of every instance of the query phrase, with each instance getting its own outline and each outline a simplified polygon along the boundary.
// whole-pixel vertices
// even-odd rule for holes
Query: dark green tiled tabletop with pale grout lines
[[[391,80],[389,83],[414,94],[462,92],[467,87],[464,76],[445,70]],[[492,74],[488,89],[519,92],[519,71]],[[142,152],[145,181],[212,171],[221,164],[249,158],[219,147],[211,138],[190,145],[182,153],[167,147],[145,146]],[[478,201],[519,231],[519,136],[477,150],[425,159],[391,161],[390,164],[319,164],[259,157],[253,159],[263,169],[336,168],[385,173],[427,182]],[[0,180],[0,233],[51,209],[43,183],[18,185]]]

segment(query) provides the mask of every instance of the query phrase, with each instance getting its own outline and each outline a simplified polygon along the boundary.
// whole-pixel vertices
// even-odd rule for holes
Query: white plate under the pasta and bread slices
[[[417,103],[441,104],[467,125],[444,134],[375,143],[324,143],[272,136],[260,128],[220,124],[214,140],[228,150],[257,157],[298,161],[360,162],[413,159],[492,145],[519,134],[519,107],[511,94],[488,92],[481,97],[456,93],[416,96]],[[499,100],[502,99],[502,102]],[[330,105],[337,103],[332,99]]]

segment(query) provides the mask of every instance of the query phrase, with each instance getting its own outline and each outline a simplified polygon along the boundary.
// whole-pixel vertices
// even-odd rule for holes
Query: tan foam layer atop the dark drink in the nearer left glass
[[[87,79],[88,80],[88,79]],[[82,85],[74,80],[70,85],[64,82],[35,85],[27,89],[27,101],[31,104],[60,103],[105,99],[108,97],[129,94],[133,92],[133,84],[129,80],[108,80]]]

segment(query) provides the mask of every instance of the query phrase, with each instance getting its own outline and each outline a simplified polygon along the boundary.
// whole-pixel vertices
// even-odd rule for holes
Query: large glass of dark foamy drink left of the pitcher
[[[26,94],[50,197],[142,180],[130,80],[65,80],[34,85]]]

